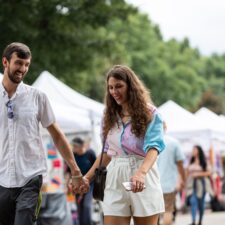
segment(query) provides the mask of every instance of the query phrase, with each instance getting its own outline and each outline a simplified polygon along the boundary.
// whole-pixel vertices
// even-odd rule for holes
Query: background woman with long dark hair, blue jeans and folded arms
[[[187,168],[187,196],[191,206],[192,225],[195,225],[197,211],[199,212],[198,225],[202,224],[206,192],[213,195],[208,178],[210,174],[201,146],[195,145]]]

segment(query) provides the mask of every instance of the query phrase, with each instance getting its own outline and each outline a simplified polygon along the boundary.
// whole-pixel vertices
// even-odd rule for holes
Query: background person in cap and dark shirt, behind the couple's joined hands
[[[87,144],[81,137],[72,140],[74,158],[79,166],[81,173],[86,174],[96,160],[95,152],[87,148]],[[70,169],[67,169],[70,173]],[[92,225],[92,191],[93,184],[85,194],[76,194],[76,204],[78,208],[79,225]]]

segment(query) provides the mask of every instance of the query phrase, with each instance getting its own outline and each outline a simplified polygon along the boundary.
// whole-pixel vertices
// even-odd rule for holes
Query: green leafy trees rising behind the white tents
[[[160,105],[224,112],[225,55],[202,56],[189,40],[164,41],[160,28],[124,0],[0,0],[0,51],[30,46],[26,82],[48,70],[67,85],[103,100],[105,74],[130,66]]]

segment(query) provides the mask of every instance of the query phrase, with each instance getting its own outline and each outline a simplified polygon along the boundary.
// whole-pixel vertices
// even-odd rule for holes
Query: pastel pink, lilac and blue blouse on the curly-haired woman
[[[150,110],[153,117],[144,138],[137,138],[131,132],[130,121],[123,124],[119,118],[119,126],[116,124],[107,135],[104,151],[110,156],[135,154],[143,157],[151,148],[162,152],[165,147],[162,119],[155,107],[151,107]]]

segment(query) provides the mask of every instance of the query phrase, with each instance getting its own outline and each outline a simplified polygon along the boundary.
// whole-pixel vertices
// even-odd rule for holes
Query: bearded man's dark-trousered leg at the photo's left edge
[[[10,193],[10,188],[0,186],[0,225],[14,224],[15,202]]]

